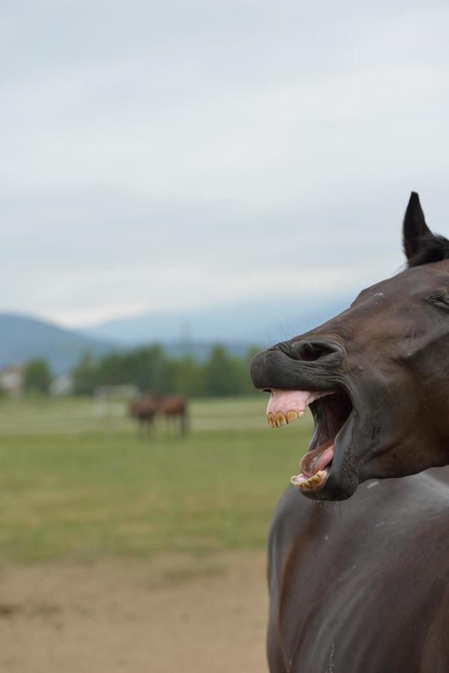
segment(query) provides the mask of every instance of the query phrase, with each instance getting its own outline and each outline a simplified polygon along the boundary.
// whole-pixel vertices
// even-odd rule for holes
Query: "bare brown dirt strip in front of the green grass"
[[[0,671],[265,673],[265,554],[0,570]]]

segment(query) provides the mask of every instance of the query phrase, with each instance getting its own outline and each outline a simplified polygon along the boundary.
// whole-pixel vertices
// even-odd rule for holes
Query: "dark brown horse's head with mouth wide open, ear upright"
[[[251,361],[253,384],[271,393],[271,426],[312,411],[292,477],[308,498],[343,500],[367,479],[449,463],[449,241],[428,229],[414,192],[403,246],[404,271]]]

